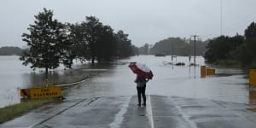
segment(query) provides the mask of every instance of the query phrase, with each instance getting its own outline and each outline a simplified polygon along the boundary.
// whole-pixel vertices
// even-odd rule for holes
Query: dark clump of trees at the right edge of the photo
[[[241,67],[256,67],[256,24],[252,22],[244,36],[220,36],[207,45],[205,58],[208,62],[231,61]]]

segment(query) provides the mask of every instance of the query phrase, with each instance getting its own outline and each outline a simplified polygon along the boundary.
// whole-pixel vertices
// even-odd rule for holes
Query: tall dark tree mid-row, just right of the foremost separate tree
[[[104,26],[95,16],[87,16],[81,26],[92,64],[95,60],[110,61],[116,50],[116,39],[111,26]]]

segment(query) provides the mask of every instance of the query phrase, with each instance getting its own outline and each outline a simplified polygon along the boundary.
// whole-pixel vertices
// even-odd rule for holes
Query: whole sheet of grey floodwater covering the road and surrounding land
[[[83,79],[90,79],[69,90],[67,98],[86,98],[98,96],[133,96],[137,94],[136,75],[131,72],[128,62],[138,61],[146,64],[154,73],[149,80],[146,93],[158,96],[183,96],[207,98],[226,102],[250,103],[248,80],[240,69],[215,68],[217,75],[201,79],[200,67],[189,67],[189,57],[155,57],[139,55],[120,60],[115,65],[98,65],[76,62],[73,69],[64,67],[50,72],[49,81],[64,84]],[[184,62],[185,66],[172,66],[170,63]],[[191,62],[193,62],[193,58]],[[21,65],[18,56],[0,56],[0,108],[20,102],[19,88],[42,86],[44,69],[32,71]],[[205,65],[201,56],[196,63]]]

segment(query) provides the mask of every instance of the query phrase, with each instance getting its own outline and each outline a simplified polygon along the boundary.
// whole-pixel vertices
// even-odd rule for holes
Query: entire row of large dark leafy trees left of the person
[[[103,25],[95,16],[86,16],[81,23],[61,23],[53,19],[53,11],[44,9],[35,15],[28,33],[22,34],[26,49],[20,60],[31,68],[55,69],[63,64],[73,66],[73,60],[112,61],[115,57],[133,55],[135,46],[131,45],[128,34],[113,32],[111,26]]]

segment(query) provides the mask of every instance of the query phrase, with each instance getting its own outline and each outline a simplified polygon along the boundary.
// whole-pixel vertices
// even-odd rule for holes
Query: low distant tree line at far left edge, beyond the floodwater
[[[22,55],[22,51],[19,47],[2,47],[0,55]]]

